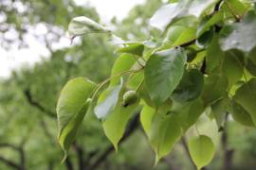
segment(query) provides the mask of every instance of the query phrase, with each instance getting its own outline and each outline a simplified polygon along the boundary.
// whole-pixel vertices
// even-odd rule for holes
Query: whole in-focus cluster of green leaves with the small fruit
[[[227,114],[247,127],[256,126],[253,3],[172,1],[155,12],[150,24],[164,36],[157,42],[121,42],[109,78],[97,85],[78,77],[64,86],[57,114],[65,154],[86,112],[101,120],[117,150],[129,119],[139,112],[155,163],[202,114],[213,118],[219,131]],[[113,34],[86,17],[69,24],[72,37],[91,32]],[[198,169],[212,160],[214,148],[209,136],[191,137],[189,150]]]

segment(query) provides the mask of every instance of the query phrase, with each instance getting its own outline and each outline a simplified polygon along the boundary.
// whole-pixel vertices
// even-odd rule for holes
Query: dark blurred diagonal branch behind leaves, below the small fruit
[[[130,122],[129,127],[125,131],[122,139],[119,144],[123,143],[127,140],[137,129],[138,127],[139,114],[137,113],[134,119]],[[96,161],[94,161],[89,167],[88,170],[96,169],[99,165],[101,165],[102,161],[105,161],[109,154],[111,154],[115,150],[113,145],[110,145],[106,150],[98,157]]]

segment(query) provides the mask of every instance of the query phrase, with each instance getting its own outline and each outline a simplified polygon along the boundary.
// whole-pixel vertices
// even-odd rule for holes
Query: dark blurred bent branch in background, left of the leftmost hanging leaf
[[[27,102],[37,108],[38,110],[41,110],[43,112],[46,113],[47,116],[51,117],[51,118],[56,118],[56,114],[54,112],[52,112],[51,110],[47,110],[44,106],[42,106],[38,101],[34,100],[31,92],[29,89],[24,91],[25,96],[27,97]]]

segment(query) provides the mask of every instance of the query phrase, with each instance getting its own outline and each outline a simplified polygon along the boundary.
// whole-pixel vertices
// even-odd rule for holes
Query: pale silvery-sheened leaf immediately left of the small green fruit
[[[98,100],[98,105],[95,107],[94,112],[99,119],[106,118],[113,112],[119,101],[119,93],[122,90],[122,80],[118,86],[110,87],[101,93]]]

